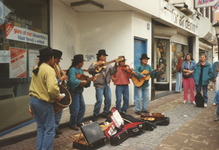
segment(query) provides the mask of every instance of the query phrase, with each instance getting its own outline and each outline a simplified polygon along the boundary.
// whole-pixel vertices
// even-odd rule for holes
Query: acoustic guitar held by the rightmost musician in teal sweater
[[[134,85],[136,86],[136,87],[140,87],[143,83],[144,83],[144,81],[147,81],[147,80],[149,80],[150,78],[151,78],[151,74],[152,73],[154,73],[155,71],[157,71],[157,70],[159,70],[159,69],[162,69],[162,68],[165,68],[167,65],[166,64],[163,64],[162,66],[160,66],[160,68],[158,68],[158,69],[155,69],[155,70],[153,70],[153,71],[151,71],[151,72],[149,72],[148,70],[143,70],[142,72],[141,72],[141,74],[142,75],[145,75],[146,76],[146,78],[144,79],[144,78],[136,78],[135,76],[133,76],[132,77],[132,81],[133,81],[133,83],[134,83]]]

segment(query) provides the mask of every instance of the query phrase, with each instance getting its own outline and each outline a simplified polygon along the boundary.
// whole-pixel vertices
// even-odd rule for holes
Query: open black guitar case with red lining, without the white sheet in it
[[[115,110],[116,109],[113,108],[112,111]],[[120,126],[120,128],[117,128],[112,120],[113,124],[104,132],[106,137],[110,140],[110,144],[113,146],[121,144],[129,137],[140,135],[145,128],[148,130],[154,129],[153,124],[145,123],[145,121],[136,119],[131,115],[123,114],[122,118],[124,118],[124,125]],[[114,130],[112,130],[112,126],[114,127]],[[112,133],[112,131],[114,131],[114,133]]]

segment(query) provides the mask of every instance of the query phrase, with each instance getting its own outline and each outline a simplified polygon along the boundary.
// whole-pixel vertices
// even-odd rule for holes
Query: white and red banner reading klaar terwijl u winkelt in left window
[[[48,35],[6,24],[6,39],[48,46]]]

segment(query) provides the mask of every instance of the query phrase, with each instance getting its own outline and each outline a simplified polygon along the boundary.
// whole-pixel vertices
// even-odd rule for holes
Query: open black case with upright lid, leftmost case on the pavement
[[[87,142],[87,145],[78,143],[74,140],[73,148],[80,150],[93,150],[105,145],[104,139],[106,136],[100,128],[98,122],[89,123],[84,126],[80,126],[81,132]]]

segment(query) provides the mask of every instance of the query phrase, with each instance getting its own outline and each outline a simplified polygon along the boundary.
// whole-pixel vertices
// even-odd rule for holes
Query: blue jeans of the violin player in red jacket
[[[121,112],[122,94],[123,94],[122,111],[126,112],[129,106],[129,86],[128,85],[116,85],[116,109],[119,112]]]

